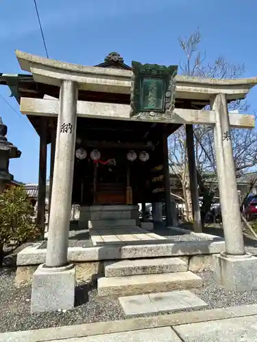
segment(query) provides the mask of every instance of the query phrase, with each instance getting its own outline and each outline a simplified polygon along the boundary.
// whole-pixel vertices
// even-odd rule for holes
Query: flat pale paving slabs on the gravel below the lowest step
[[[199,309],[208,306],[194,293],[182,290],[149,295],[130,295],[119,298],[126,317],[169,313],[186,309]]]

